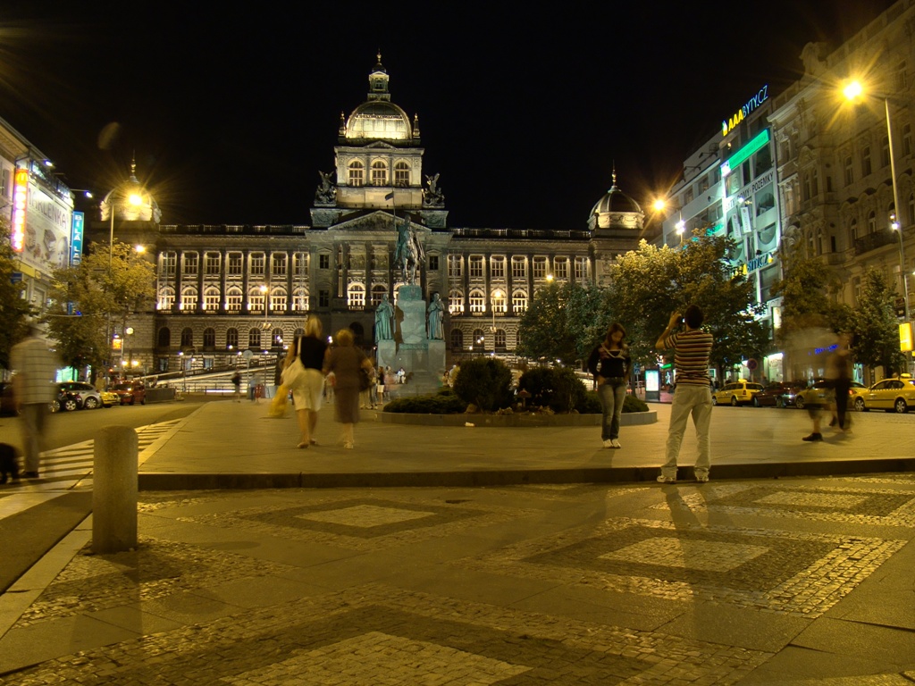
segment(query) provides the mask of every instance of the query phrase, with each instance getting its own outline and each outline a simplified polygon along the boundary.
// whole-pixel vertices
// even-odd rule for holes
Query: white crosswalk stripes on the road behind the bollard
[[[175,419],[136,429],[139,453],[172,431]],[[0,486],[0,520],[77,489],[92,488],[94,442],[83,441],[48,450],[41,457],[41,478]]]

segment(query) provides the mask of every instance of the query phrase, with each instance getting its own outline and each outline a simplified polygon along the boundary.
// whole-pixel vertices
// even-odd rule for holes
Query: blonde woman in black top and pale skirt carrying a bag
[[[321,320],[309,315],[305,320],[305,335],[296,340],[296,346],[286,357],[283,382],[292,388],[296,403],[296,419],[300,435],[299,448],[316,445],[315,427],[324,395],[324,356],[328,343],[321,337]]]

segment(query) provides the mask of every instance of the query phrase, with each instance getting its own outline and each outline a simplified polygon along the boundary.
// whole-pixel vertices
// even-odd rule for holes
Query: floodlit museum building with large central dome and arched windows
[[[132,170],[87,230],[90,242],[113,235],[156,260],[155,309],[135,313],[116,332],[124,366],[160,373],[192,357],[197,368],[219,369],[245,350],[275,355],[307,313],[318,315],[326,332],[350,327],[372,348],[375,307],[383,295],[396,305],[404,284],[393,263],[395,220],[409,220],[422,242],[416,283],[426,302],[436,293],[447,302],[448,363],[511,356],[538,288],[552,280],[604,283],[609,264],[642,238],[644,214],[617,188],[615,174],[590,212],[582,209],[580,227],[450,227],[438,174],[424,172],[424,152],[418,115],[392,102],[379,55],[365,102],[340,114],[336,168],[319,172],[310,224],[161,223],[155,199]]]

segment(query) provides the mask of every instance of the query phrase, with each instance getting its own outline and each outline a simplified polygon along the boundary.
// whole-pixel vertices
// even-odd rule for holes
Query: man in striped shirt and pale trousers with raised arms
[[[708,481],[712,465],[712,451],[708,427],[712,422],[712,390],[708,378],[708,356],[712,351],[712,335],[699,327],[705,315],[697,305],[689,305],[683,315],[685,328],[672,333],[680,323],[681,315],[674,312],[664,333],[654,344],[659,350],[673,348],[673,369],[676,370],[676,391],[671,405],[671,425],[667,430],[667,456],[661,467],[658,481],[673,484],[677,480],[677,456],[684,440],[686,420],[693,415],[699,456],[694,474],[699,483]]]

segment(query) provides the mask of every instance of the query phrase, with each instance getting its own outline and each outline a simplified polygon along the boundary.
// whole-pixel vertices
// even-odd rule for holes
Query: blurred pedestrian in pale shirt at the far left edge
[[[47,341],[38,338],[39,329],[29,325],[28,335],[10,349],[10,367],[13,376],[13,395],[19,411],[22,431],[26,478],[38,478],[41,453],[45,447],[50,402],[57,395],[54,381],[57,378],[59,359],[48,348]]]

